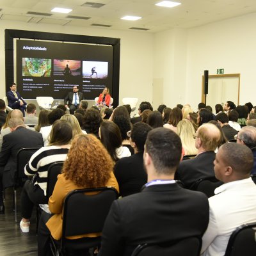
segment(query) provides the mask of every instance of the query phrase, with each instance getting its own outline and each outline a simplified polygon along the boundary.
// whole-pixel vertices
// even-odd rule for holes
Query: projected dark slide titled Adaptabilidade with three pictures
[[[112,92],[113,47],[43,40],[17,40],[17,91],[24,99],[63,99],[77,86],[93,100],[105,86]]]

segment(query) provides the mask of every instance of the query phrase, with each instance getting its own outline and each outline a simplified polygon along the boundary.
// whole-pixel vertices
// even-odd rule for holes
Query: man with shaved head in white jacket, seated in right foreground
[[[256,221],[256,186],[250,178],[253,154],[239,143],[225,143],[214,161],[216,178],[224,184],[209,198],[210,221],[203,236],[202,255],[225,255],[234,230]]]

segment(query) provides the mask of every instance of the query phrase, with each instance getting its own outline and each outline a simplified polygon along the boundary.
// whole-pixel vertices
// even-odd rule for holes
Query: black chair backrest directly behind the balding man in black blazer
[[[222,181],[215,178],[205,178],[196,180],[196,182],[189,189],[203,192],[209,198],[215,195],[214,190],[220,187],[222,184]]]

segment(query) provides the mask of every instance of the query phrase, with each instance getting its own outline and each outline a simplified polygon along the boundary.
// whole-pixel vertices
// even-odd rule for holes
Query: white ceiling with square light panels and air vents
[[[105,4],[100,8],[92,8],[82,6],[86,0],[0,0],[0,20],[82,27],[102,24],[110,26],[106,29],[127,31],[135,27],[149,29],[147,33],[156,33],[172,28],[193,28],[256,12],[256,0],[173,0],[181,3],[174,8],[155,6],[160,1],[89,0],[90,3]],[[73,11],[68,14],[51,13],[54,7],[70,8]],[[51,16],[28,12],[40,12]],[[81,18],[74,19],[67,17],[68,15]],[[140,16],[142,19],[120,20],[125,15]]]

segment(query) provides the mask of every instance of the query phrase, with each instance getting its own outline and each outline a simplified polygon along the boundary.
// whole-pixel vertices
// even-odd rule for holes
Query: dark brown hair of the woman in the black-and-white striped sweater
[[[65,120],[56,120],[49,134],[49,145],[67,145],[72,136],[71,125]]]

